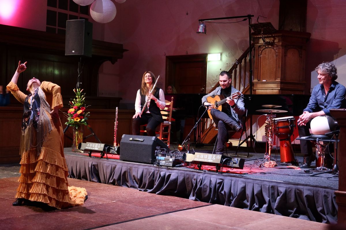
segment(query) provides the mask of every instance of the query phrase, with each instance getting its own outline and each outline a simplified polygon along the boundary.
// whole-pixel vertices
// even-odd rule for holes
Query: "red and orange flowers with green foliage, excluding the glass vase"
[[[86,120],[88,120],[89,112],[85,112],[85,108],[88,107],[84,104],[85,93],[82,93],[83,89],[73,89],[73,92],[76,94],[76,98],[70,101],[71,109],[67,111],[67,121],[65,124],[70,124],[70,126],[74,127],[86,126],[88,124]]]

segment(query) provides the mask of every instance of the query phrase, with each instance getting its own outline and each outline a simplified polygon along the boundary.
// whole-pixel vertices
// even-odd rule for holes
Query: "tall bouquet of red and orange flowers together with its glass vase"
[[[83,89],[73,89],[73,92],[76,94],[76,98],[70,101],[71,109],[67,111],[65,124],[73,127],[72,152],[82,152],[78,149],[78,145],[83,142],[84,126],[88,125],[86,120],[88,120],[90,112],[85,112],[87,106],[84,104]]]

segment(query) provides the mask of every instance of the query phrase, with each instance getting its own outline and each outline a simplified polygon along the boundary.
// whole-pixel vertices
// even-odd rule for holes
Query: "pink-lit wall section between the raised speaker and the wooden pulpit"
[[[208,62],[207,90],[217,81],[221,70],[228,70],[248,48],[248,21],[228,24],[207,23],[207,34],[197,34],[198,19],[254,14],[267,17],[277,28],[279,1],[262,0],[185,1],[127,0],[117,4],[117,20],[108,23],[119,30],[108,30],[106,41],[120,42],[129,51],[119,66],[119,96],[122,103],[134,103],[143,72],[160,75],[159,87],[165,88],[165,56],[222,53],[221,61]],[[236,22],[241,19],[225,20]],[[222,21],[217,21],[222,22]],[[117,34],[117,33],[120,34]],[[127,87],[128,85],[131,87]],[[100,92],[105,89],[100,88]]]

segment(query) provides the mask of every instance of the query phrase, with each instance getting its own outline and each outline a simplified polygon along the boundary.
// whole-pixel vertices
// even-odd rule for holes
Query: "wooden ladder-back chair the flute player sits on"
[[[164,109],[161,109],[161,114],[163,118],[163,122],[160,124],[159,127],[156,128],[156,136],[165,142],[167,146],[170,146],[170,139],[171,139],[171,123],[172,123],[172,111],[173,111],[173,97],[171,98],[171,101],[165,100],[166,107]],[[145,125],[141,127],[145,127]],[[167,127],[167,129],[165,129]],[[145,133],[144,130],[140,130],[141,133]]]

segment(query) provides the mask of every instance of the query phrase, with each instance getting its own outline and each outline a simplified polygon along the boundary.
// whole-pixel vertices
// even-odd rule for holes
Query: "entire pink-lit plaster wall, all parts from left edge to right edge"
[[[1,11],[16,3],[12,18]],[[207,34],[197,34],[198,19],[254,14],[260,22],[271,22],[278,29],[278,0],[127,0],[117,7],[116,18],[109,23],[93,22],[93,39],[124,44],[129,51],[112,65],[106,62],[99,72],[99,96],[119,96],[121,103],[134,103],[135,92],[146,70],[161,75],[164,88],[165,55],[222,53],[221,61],[208,62],[207,89],[221,70],[227,70],[248,46],[248,22],[207,23]],[[46,0],[0,0],[0,24],[45,31]],[[311,87],[317,84],[313,71],[322,61],[333,61],[338,81],[346,85],[346,1],[308,0],[306,74]],[[92,20],[91,20],[92,21]],[[228,22],[235,20],[228,20]],[[221,21],[216,21],[221,22]],[[25,41],[23,41],[25,42]]]

